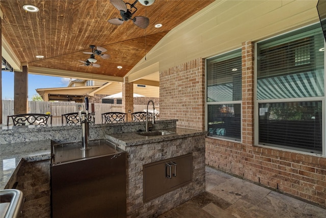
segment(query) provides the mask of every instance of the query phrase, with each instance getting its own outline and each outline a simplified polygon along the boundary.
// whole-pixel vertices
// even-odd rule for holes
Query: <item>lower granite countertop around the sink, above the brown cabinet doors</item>
[[[158,130],[153,130],[158,131]],[[137,134],[138,132],[125,132],[125,133],[114,133],[106,135],[106,139],[119,144],[123,150],[128,146],[138,146],[140,144],[148,144],[159,141],[173,140],[178,138],[185,138],[197,135],[206,135],[207,131],[185,129],[185,128],[170,128],[161,129],[160,131],[172,132],[169,135],[157,135],[157,136],[143,136]]]

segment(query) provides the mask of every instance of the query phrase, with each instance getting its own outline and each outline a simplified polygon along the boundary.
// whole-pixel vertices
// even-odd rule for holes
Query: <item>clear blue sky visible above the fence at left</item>
[[[67,87],[70,78],[29,74],[28,80],[28,96],[31,100],[33,95],[38,94],[35,89]],[[2,71],[2,99],[14,99],[14,72]]]

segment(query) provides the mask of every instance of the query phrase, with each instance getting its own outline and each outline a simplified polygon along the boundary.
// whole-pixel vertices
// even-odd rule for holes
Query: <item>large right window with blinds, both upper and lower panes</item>
[[[320,26],[256,47],[259,144],[322,154],[325,86]]]

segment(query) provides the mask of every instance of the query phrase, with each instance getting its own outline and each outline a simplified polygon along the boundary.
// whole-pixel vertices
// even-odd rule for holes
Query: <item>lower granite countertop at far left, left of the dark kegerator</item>
[[[15,176],[22,161],[38,161],[51,158],[51,140],[28,141],[0,145],[0,189],[6,187]]]

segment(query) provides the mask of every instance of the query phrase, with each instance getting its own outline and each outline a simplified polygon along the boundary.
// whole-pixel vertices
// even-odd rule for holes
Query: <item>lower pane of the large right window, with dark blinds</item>
[[[322,109],[317,102],[260,103],[259,143],[322,153]]]

